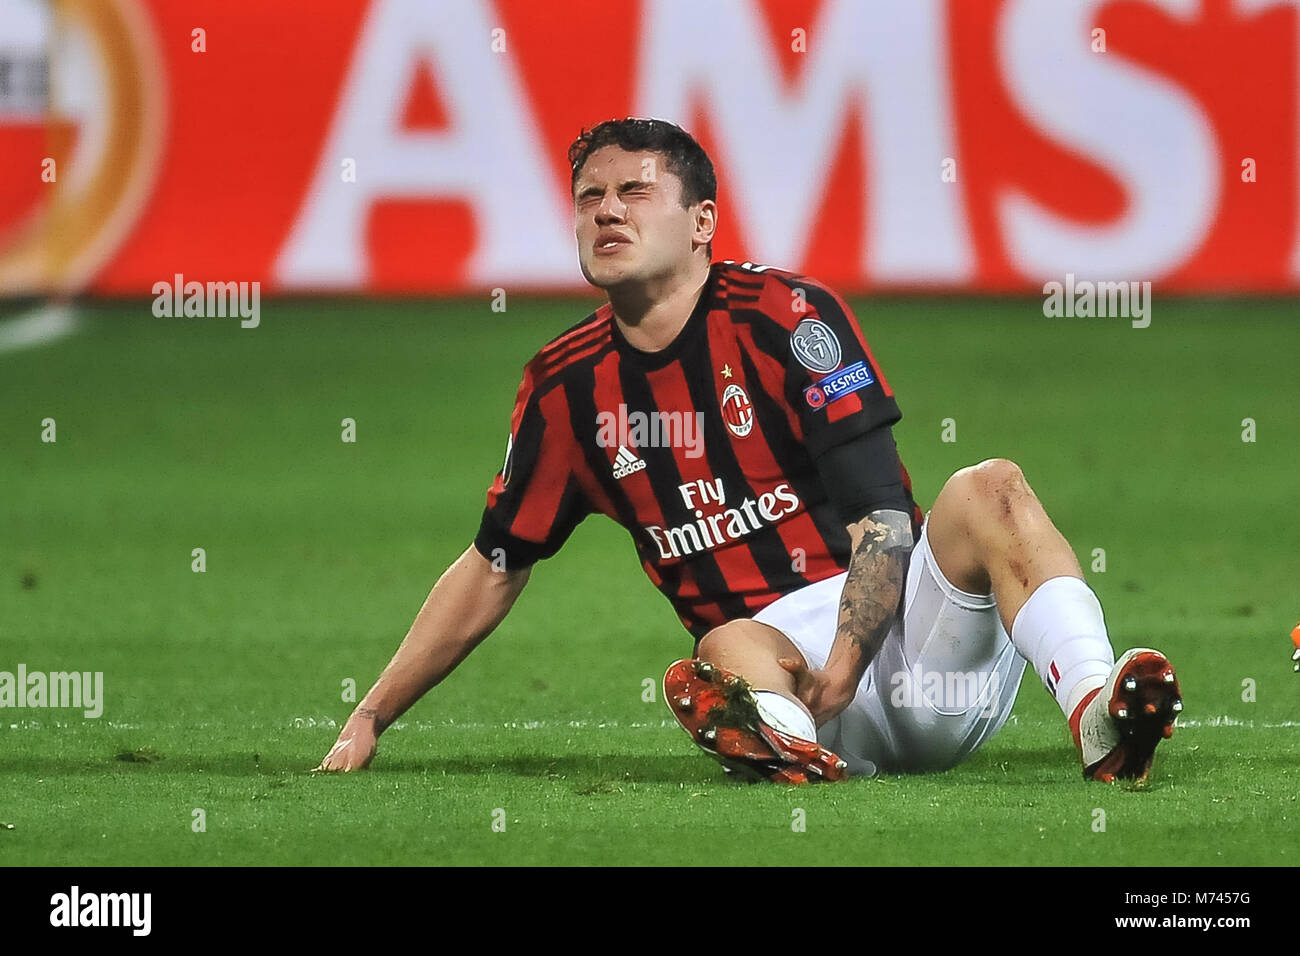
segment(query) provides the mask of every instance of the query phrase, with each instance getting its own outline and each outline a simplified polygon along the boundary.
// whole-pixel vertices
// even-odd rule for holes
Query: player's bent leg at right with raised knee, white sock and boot
[[[1157,650],[1115,661],[1101,604],[1019,467],[994,458],[954,473],[926,533],[949,581],[996,597],[1015,649],[1070,723],[1084,777],[1145,778],[1183,706],[1178,678]]]

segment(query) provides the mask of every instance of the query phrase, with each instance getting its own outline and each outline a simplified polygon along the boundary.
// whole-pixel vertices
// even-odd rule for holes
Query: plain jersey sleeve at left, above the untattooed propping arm
[[[507,568],[550,558],[590,514],[573,473],[563,388],[538,397],[524,373],[511,415],[506,460],[488,488],[474,548]]]

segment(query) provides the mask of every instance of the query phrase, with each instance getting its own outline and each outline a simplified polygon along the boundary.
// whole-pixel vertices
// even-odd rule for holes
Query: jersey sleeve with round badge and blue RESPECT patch
[[[826,286],[800,278],[806,311],[790,332],[786,397],[798,410],[814,457],[902,419],[893,389],[849,306]]]

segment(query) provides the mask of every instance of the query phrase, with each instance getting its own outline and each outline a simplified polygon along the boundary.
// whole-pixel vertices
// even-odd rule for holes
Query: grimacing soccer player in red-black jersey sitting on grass
[[[894,393],[844,300],[806,276],[711,261],[716,182],[699,144],[611,120],[569,160],[582,274],[608,303],[525,367],[473,544],[320,769],[367,766],[532,566],[602,512],[696,637],[667,701],[729,770],[945,770],[1006,722],[1028,661],[1084,777],[1144,778],[1182,710],[1173,667],[1143,648],[1115,661],[1020,470],[962,468],[923,514]]]

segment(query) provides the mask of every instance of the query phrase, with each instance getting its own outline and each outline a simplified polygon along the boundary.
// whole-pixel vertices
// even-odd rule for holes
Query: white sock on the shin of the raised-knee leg
[[[1106,683],[1115,663],[1101,602],[1078,578],[1043,581],[1011,622],[1011,643],[1066,719],[1089,691]]]

